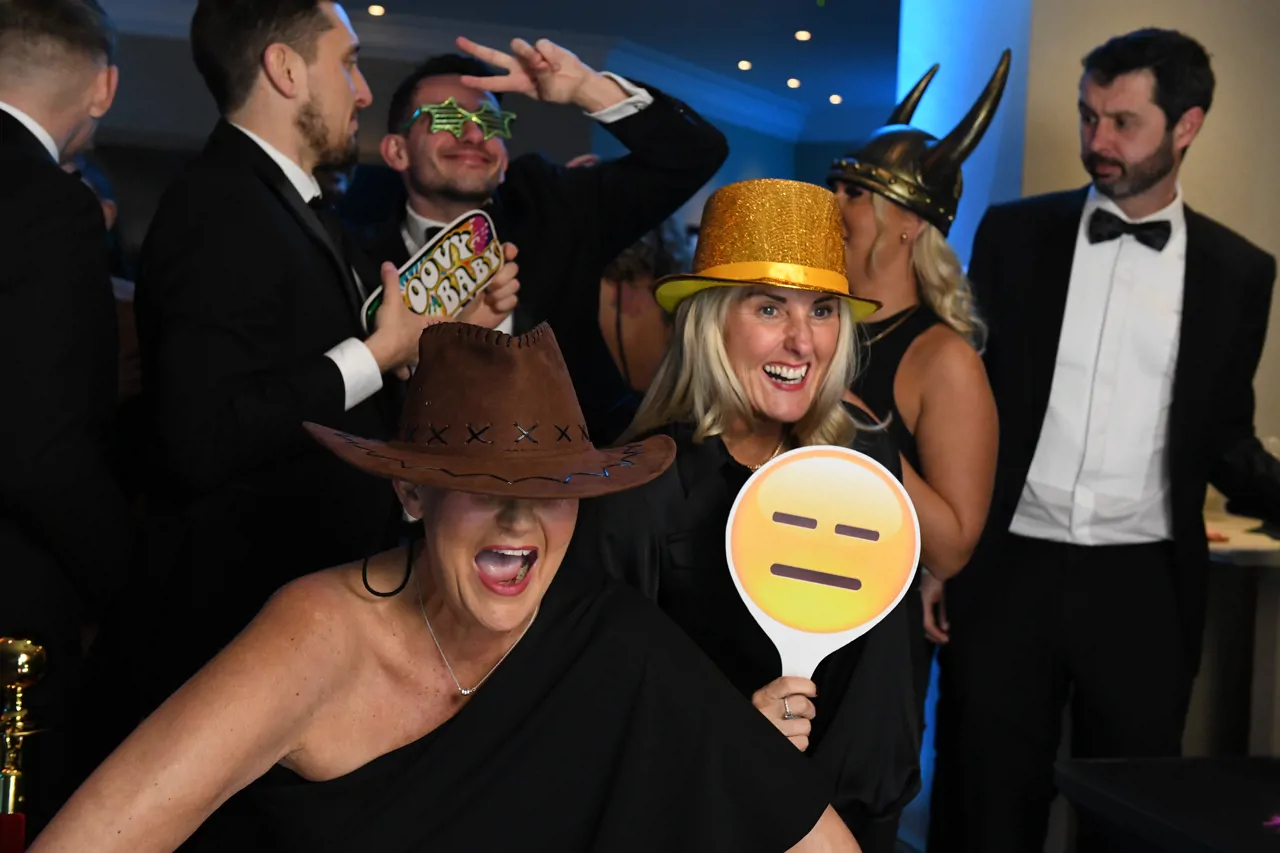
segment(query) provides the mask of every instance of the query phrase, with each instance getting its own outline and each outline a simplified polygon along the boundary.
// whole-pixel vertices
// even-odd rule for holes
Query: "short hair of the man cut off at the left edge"
[[[0,0],[0,56],[20,68],[26,47],[50,41],[115,64],[115,24],[97,0]]]

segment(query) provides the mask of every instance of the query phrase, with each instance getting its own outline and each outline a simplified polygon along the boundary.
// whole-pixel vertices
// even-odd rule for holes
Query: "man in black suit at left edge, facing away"
[[[115,95],[115,31],[95,0],[0,0],[0,637],[45,646],[28,693],[28,827],[60,790],[82,626],[124,581],[133,519],[108,462],[115,300],[102,209],[59,168]]]

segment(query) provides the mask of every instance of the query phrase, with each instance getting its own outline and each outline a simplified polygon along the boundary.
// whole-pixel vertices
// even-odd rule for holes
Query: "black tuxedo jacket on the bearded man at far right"
[[[1076,234],[1088,190],[991,207],[974,237],[969,278],[989,324],[984,355],[1000,410],[1000,457],[991,512],[970,566],[948,584],[952,617],[977,603],[983,564],[998,555],[1039,441],[1057,357]],[[1256,460],[1253,373],[1266,341],[1276,264],[1224,225],[1187,209],[1183,320],[1169,414],[1166,470],[1187,661],[1199,665],[1208,579],[1206,484],[1228,497],[1275,484]],[[952,589],[954,588],[954,589]],[[956,612],[959,607],[959,613]]]

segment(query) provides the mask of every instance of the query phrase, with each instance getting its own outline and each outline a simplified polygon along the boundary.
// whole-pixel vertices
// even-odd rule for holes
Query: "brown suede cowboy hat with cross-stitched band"
[[[676,457],[666,435],[596,450],[556,336],[467,323],[429,327],[390,442],[303,426],[356,467],[422,485],[522,498],[586,498],[643,485]]]

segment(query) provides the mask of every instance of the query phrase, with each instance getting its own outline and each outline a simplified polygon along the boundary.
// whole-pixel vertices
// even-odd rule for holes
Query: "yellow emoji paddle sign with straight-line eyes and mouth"
[[[801,447],[746,482],[724,546],[782,674],[810,678],[910,589],[920,528],[906,489],[879,462],[844,447]]]

